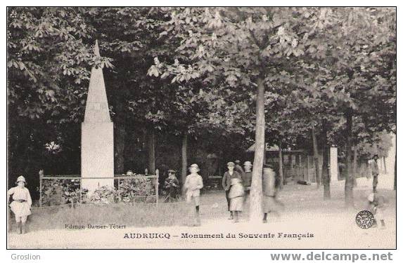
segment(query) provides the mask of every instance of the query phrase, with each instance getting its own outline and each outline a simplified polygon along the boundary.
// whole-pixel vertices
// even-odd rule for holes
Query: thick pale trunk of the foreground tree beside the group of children
[[[262,173],[264,157],[264,79],[257,81],[255,156],[250,187],[250,221],[262,222]]]

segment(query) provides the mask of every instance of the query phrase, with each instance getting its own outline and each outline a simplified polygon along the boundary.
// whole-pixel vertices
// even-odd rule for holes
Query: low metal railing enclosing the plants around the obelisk
[[[78,203],[82,204],[83,197],[83,187],[82,180],[108,180],[112,179],[114,182],[115,189],[115,180],[117,180],[117,193],[119,194],[118,203],[122,201],[120,188],[122,180],[133,180],[145,178],[151,180],[151,184],[155,187],[155,194],[146,195],[146,196],[134,196],[134,197],[152,197],[155,196],[155,205],[158,206],[158,173],[156,175],[115,175],[113,177],[81,177],[81,175],[39,175],[39,207],[41,208],[43,203],[43,191],[44,191],[44,180],[79,180],[79,201]],[[65,204],[63,204],[65,205]],[[74,203],[72,203],[74,205]],[[59,205],[57,205],[59,206]]]

